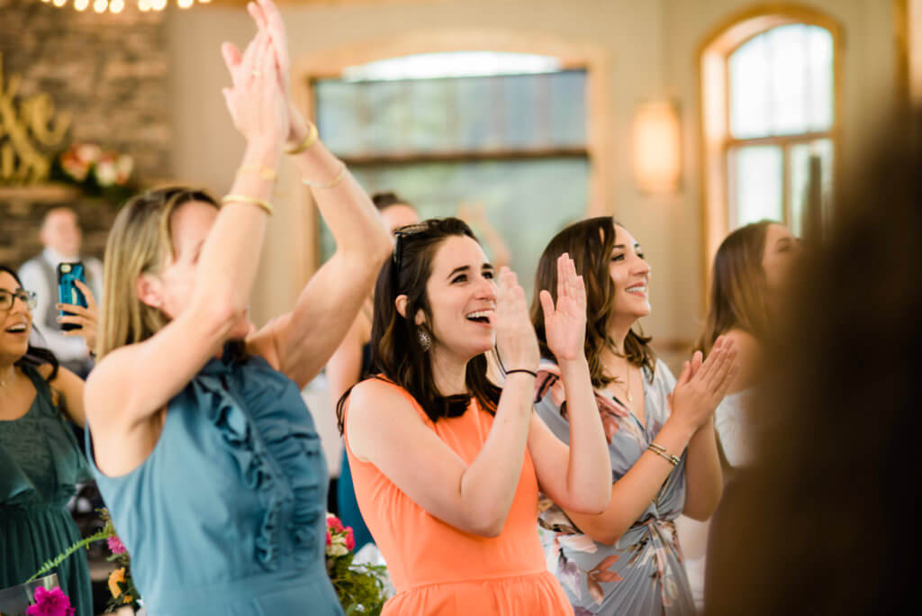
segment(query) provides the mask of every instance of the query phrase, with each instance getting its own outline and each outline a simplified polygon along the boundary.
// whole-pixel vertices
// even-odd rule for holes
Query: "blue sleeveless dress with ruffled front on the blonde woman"
[[[173,397],[160,440],[121,477],[89,461],[157,616],[339,616],[326,575],[326,463],[301,392],[225,349]]]

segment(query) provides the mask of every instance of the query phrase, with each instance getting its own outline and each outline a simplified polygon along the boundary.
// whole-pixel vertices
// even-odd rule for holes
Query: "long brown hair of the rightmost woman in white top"
[[[774,220],[751,222],[720,243],[711,271],[707,318],[695,349],[706,356],[718,336],[739,328],[764,342],[768,328],[762,253]]]

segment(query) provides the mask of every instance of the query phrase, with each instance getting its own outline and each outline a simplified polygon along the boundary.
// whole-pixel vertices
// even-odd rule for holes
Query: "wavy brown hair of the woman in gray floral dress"
[[[557,259],[563,253],[570,255],[576,266],[576,273],[585,281],[586,324],[585,324],[585,359],[589,361],[589,373],[592,385],[597,389],[609,383],[618,383],[620,379],[605,372],[602,365],[602,353],[605,349],[615,347],[609,336],[609,328],[614,318],[615,283],[609,273],[609,259],[615,246],[618,224],[610,216],[585,219],[574,222],[550,240],[538,261],[535,274],[535,297],[531,302],[531,322],[538,334],[538,346],[541,356],[554,358],[548,347],[547,334],[544,329],[544,312],[538,299],[538,290],[550,291],[557,302]],[[650,348],[650,340],[643,332],[631,328],[624,340],[624,354],[632,365],[647,368],[651,382],[656,370],[656,354]]]

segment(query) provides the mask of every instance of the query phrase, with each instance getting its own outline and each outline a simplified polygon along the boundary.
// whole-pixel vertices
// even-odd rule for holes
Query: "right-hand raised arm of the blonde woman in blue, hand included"
[[[391,253],[390,234],[345,164],[317,138],[290,97],[290,61],[285,26],[271,0],[247,6],[279,58],[279,86],[288,97],[289,151],[302,181],[336,240],[337,251],[301,290],[293,310],[258,332],[248,345],[299,385],[324,367],[371,293],[374,278]],[[229,66],[239,53],[223,48]]]

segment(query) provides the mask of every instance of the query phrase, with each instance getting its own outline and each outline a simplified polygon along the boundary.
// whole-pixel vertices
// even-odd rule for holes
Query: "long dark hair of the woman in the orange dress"
[[[420,310],[431,323],[432,314],[426,296],[426,282],[432,273],[432,261],[444,241],[453,236],[477,237],[461,219],[428,219],[420,224],[395,231],[397,245],[393,258],[384,263],[374,287],[372,314],[372,365],[380,377],[406,389],[431,421],[461,415],[470,401],[477,398],[481,409],[495,412],[500,388],[487,377],[487,357],[478,355],[467,362],[465,382],[470,396],[442,396],[435,386],[432,364],[420,345],[420,330],[430,338],[429,326],[418,326],[413,318]],[[399,267],[399,268],[397,268]],[[407,296],[404,317],[397,312],[396,298]],[[343,407],[351,387],[337,402],[339,432],[343,432]]]

